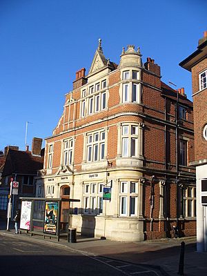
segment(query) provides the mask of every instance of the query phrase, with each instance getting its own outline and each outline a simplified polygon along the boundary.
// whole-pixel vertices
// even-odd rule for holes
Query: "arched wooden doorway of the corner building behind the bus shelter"
[[[70,186],[64,185],[60,190],[61,199],[70,199]],[[61,201],[61,230],[63,232],[67,231],[68,221],[69,221],[69,211],[70,204],[67,201]]]

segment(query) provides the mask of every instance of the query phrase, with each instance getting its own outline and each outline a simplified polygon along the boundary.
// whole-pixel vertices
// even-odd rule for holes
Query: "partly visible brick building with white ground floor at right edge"
[[[197,50],[179,65],[192,73],[197,179],[197,250],[207,251],[207,31]]]

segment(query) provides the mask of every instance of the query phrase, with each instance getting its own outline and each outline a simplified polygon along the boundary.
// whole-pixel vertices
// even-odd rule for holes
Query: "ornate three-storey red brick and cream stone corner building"
[[[63,115],[46,138],[37,197],[80,199],[61,210],[83,235],[141,241],[195,235],[193,103],[161,81],[135,46],[119,65],[101,39],[88,75],[76,72]],[[109,193],[104,198],[104,190]],[[70,216],[68,221],[68,213]]]

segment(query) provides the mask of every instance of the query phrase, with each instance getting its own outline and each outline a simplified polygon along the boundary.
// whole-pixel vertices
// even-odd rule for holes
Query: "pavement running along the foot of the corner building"
[[[183,237],[177,239],[156,239],[144,242],[115,242],[109,239],[96,239],[81,237],[77,234],[77,243],[68,242],[66,234],[57,239],[41,235],[21,233],[13,235],[13,225],[10,231],[6,230],[6,221],[0,221],[0,235],[14,239],[26,239],[32,242],[68,248],[90,256],[106,257],[124,262],[155,268],[157,275],[178,275],[181,242],[185,242],[184,275],[207,276],[207,252],[196,251],[196,237]]]

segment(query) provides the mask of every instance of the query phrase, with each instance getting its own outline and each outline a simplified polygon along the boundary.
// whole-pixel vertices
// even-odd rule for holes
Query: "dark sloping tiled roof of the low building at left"
[[[12,150],[8,151],[3,175],[17,173],[20,175],[37,175],[37,170],[43,168],[43,157],[34,156],[30,151]]]

